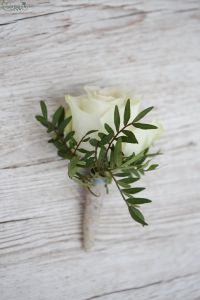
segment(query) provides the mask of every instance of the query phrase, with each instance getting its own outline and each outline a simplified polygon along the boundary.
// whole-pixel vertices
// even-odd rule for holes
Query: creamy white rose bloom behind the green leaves
[[[99,88],[85,87],[86,94],[78,97],[66,96],[65,100],[69,106],[67,115],[72,115],[72,127],[75,131],[75,138],[79,141],[89,130],[99,130],[105,132],[104,124],[109,124],[113,129],[114,126],[114,109],[115,105],[119,108],[121,120],[123,120],[124,108],[127,99],[130,99],[131,104],[131,119],[133,120],[139,113],[140,100],[135,97],[132,90],[123,90],[118,88]],[[149,147],[162,134],[162,127],[159,123],[153,122],[153,125],[158,126],[158,129],[142,130],[129,127],[133,131],[138,144],[124,144],[123,152],[125,155],[135,154]],[[84,145],[90,149],[90,145]]]

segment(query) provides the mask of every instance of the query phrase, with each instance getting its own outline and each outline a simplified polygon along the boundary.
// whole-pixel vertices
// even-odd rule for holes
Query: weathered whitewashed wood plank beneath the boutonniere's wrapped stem
[[[184,172],[184,164],[174,161],[173,166],[161,168],[153,177],[146,178],[146,184],[151,187],[148,194],[159,199],[144,209],[150,221],[147,229],[128,218],[122,199],[113,191],[102,211],[96,251],[89,255],[80,248],[83,194],[65,178],[62,162],[4,170],[7,175],[1,180],[5,189],[1,203],[4,208],[2,222],[5,223],[1,224],[0,245],[1,264],[6,267],[2,268],[2,276],[6,274],[10,284],[12,280],[15,282],[10,295],[16,295],[20,288],[25,298],[27,289],[31,288],[30,299],[37,298],[36,285],[40,276],[45,278],[44,285],[52,289],[59,287],[55,292],[58,294],[50,296],[50,292],[45,291],[46,299],[63,295],[78,300],[198,273],[200,207],[198,191],[190,184],[192,181],[197,186],[199,180],[194,165],[195,162],[191,166],[192,177]],[[170,178],[174,168],[178,170],[177,178]],[[182,192],[177,194],[180,190]],[[35,264],[39,269],[35,269]],[[64,265],[66,270],[63,270]],[[10,277],[13,268],[15,272]],[[18,269],[22,274],[17,283]],[[116,278],[114,274],[120,269],[124,270],[123,275]],[[77,270],[76,282],[81,282],[81,293],[74,282]],[[24,276],[30,276],[28,286],[31,284],[31,287],[23,284]],[[92,286],[91,281],[94,281]],[[67,288],[62,287],[64,282]],[[175,283],[175,291],[177,285]],[[43,289],[43,285],[39,289]],[[158,293],[159,289],[158,286],[152,292]],[[190,292],[198,295],[195,286],[190,285]],[[6,299],[6,289],[4,293],[3,299]],[[126,299],[126,293],[123,296]]]

